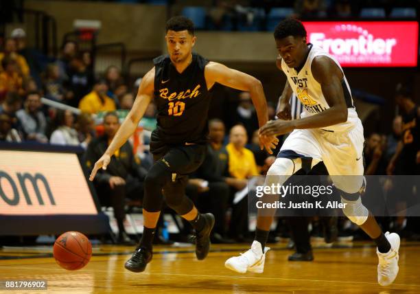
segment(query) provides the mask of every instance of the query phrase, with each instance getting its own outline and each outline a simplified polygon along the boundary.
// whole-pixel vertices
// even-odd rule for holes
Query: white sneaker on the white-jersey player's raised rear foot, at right
[[[397,278],[399,271],[399,236],[395,233],[389,234],[389,231],[387,231],[385,237],[390,242],[390,251],[387,253],[380,253],[380,251],[377,251],[376,249],[377,257],[379,258],[379,264],[377,264],[377,282],[381,286],[392,284],[395,278]]]

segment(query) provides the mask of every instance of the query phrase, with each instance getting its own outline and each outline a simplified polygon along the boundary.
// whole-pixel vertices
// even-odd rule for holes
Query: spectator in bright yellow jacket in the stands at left
[[[80,100],[79,109],[86,113],[115,111],[115,102],[112,98],[106,95],[107,91],[108,86],[106,85],[106,80],[97,80],[95,86],[93,86],[93,91]]]

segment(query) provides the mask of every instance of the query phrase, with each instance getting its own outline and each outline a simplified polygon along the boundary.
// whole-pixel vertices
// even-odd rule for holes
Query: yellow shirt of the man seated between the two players
[[[248,179],[259,175],[257,163],[251,150],[242,148],[237,150],[232,143],[226,146],[229,154],[229,174],[236,179]]]

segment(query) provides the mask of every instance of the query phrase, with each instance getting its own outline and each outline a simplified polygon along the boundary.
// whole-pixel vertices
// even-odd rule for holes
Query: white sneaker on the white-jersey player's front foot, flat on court
[[[234,256],[224,262],[224,266],[237,273],[263,273],[264,262],[266,260],[266,252],[270,250],[269,247],[264,248],[262,252],[261,243],[255,240],[251,248],[240,256]]]

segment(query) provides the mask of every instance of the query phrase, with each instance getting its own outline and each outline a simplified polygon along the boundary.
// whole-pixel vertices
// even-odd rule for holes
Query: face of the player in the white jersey
[[[307,53],[306,38],[288,36],[276,40],[277,51],[288,67],[299,67]]]

